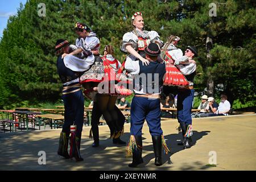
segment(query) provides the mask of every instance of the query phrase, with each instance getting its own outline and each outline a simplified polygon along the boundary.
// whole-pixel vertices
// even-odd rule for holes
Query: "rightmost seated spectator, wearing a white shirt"
[[[230,103],[227,100],[226,94],[221,94],[221,102],[218,105],[218,109],[214,113],[210,113],[209,116],[228,115],[230,110]]]

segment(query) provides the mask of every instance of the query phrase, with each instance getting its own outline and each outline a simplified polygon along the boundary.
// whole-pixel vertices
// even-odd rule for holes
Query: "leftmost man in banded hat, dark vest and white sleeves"
[[[80,155],[80,143],[82,125],[84,123],[84,96],[82,96],[79,77],[81,76],[81,72],[89,69],[90,63],[87,63],[86,59],[65,56],[69,53],[69,50],[67,40],[57,40],[55,46],[56,55],[58,56],[57,72],[63,83],[62,98],[65,106],[65,121],[60,134],[57,154],[64,156],[66,159],[75,157],[76,161],[81,161],[83,160]],[[88,50],[86,49],[85,51]],[[71,136],[70,151],[68,154],[69,135]]]

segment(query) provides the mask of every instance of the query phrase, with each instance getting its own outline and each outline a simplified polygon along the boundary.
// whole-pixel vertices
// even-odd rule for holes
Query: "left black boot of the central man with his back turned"
[[[143,163],[142,159],[142,136],[134,136],[137,143],[137,150],[133,151],[133,162],[128,164],[129,167],[137,167]],[[138,147],[139,146],[139,147]]]

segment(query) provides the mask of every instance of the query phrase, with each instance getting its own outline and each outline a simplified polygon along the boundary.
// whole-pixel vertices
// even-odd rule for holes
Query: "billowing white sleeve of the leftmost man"
[[[90,65],[94,63],[94,56],[90,55],[86,59],[80,59],[73,55],[67,55],[64,57],[65,67],[75,72],[83,72],[90,68]]]

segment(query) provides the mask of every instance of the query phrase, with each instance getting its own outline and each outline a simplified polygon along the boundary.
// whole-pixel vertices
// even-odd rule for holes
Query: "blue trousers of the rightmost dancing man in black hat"
[[[192,125],[191,109],[194,99],[194,89],[178,90],[177,93],[177,119],[185,125]]]

